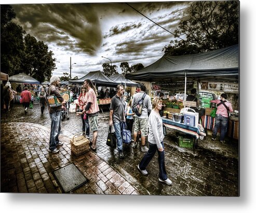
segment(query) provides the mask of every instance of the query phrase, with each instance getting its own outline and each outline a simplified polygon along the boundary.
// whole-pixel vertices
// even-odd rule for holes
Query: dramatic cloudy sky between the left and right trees
[[[82,77],[92,70],[102,70],[103,63],[127,61],[129,65],[148,66],[163,55],[173,35],[161,29],[124,2],[12,4],[15,22],[44,41],[57,59],[53,74]],[[77,1],[76,1],[77,2]],[[84,1],[86,2],[86,1]],[[48,3],[48,2],[45,2]],[[173,32],[187,16],[191,2],[128,3],[146,17]],[[104,59],[109,58],[110,60]],[[75,63],[75,64],[74,64]]]

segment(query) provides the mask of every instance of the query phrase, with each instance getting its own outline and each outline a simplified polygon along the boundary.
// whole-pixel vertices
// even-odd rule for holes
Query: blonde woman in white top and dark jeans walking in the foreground
[[[164,131],[163,121],[160,117],[159,110],[162,108],[163,101],[156,97],[152,102],[153,110],[149,116],[149,151],[144,155],[140,164],[138,165],[139,171],[143,175],[147,175],[146,166],[154,157],[156,151],[158,153],[159,177],[160,182],[171,185],[171,180],[167,177],[165,169],[165,150],[164,150]]]

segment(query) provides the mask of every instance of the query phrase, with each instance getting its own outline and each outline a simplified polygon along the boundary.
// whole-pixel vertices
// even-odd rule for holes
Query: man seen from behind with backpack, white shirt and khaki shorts
[[[145,93],[146,87],[142,85],[140,91],[133,96],[132,109],[134,114],[134,131],[132,147],[137,147],[137,137],[138,132],[141,131],[141,151],[147,152],[149,148],[145,146],[145,140],[147,133],[149,131],[149,126],[147,124],[149,114],[152,110],[151,98]],[[141,104],[140,104],[141,103]]]

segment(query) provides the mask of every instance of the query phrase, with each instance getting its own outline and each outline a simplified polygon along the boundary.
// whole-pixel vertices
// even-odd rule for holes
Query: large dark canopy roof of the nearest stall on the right
[[[213,50],[204,53],[163,56],[155,63],[126,75],[128,79],[143,81],[184,80],[238,81],[239,46]]]

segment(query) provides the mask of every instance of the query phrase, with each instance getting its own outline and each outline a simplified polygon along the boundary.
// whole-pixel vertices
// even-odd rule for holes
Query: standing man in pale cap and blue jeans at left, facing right
[[[60,86],[60,79],[58,76],[52,76],[50,78],[50,87],[48,88],[47,93],[49,95],[55,95],[60,102],[65,103],[64,98],[60,95],[60,92],[57,87]],[[57,146],[63,145],[59,141],[59,135],[61,130],[61,105],[57,107],[49,106],[49,113],[51,118],[51,133],[50,133],[50,146],[49,150],[52,153],[57,153],[60,150],[57,149]]]

